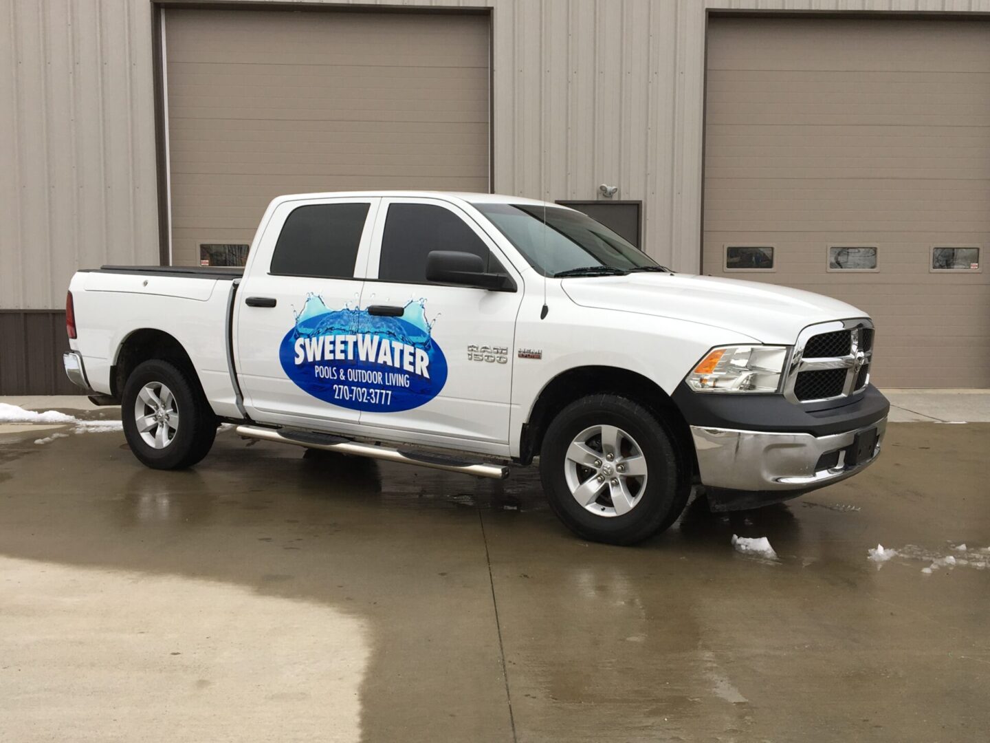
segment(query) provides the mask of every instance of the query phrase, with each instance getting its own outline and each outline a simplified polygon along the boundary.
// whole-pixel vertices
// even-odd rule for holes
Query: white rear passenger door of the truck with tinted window
[[[247,413],[343,431],[360,411],[340,377],[356,352],[379,199],[289,201],[272,212],[238,291],[235,349]]]

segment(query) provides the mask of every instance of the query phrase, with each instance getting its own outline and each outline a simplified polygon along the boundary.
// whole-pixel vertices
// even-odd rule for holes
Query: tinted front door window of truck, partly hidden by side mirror
[[[431,251],[460,251],[480,256],[492,270],[488,248],[464,221],[442,206],[392,204],[381,237],[378,278],[385,281],[427,281]],[[496,265],[495,270],[501,270]]]

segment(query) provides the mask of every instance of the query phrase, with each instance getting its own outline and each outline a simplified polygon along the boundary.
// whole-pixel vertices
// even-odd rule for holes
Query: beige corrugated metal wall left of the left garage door
[[[157,263],[149,4],[0,6],[0,307],[78,265]]]

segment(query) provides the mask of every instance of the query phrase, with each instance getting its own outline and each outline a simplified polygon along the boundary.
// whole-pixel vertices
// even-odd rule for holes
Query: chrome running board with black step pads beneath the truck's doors
[[[434,470],[446,470],[450,473],[463,473],[478,478],[505,479],[509,477],[509,468],[503,465],[488,465],[483,462],[461,462],[443,454],[431,452],[399,451],[389,447],[374,444],[360,444],[356,441],[333,436],[330,434],[311,433],[308,431],[286,431],[261,426],[238,426],[239,436],[246,439],[274,441],[278,444],[292,444],[307,449],[322,449],[325,452],[338,452],[356,457],[370,457],[386,462],[399,462],[403,465],[419,465]]]

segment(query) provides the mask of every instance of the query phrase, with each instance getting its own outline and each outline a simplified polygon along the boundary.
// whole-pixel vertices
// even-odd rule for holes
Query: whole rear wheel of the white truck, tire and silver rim
[[[217,417],[187,373],[156,359],[128,377],[121,418],[134,456],[155,470],[192,467],[217,435]]]

